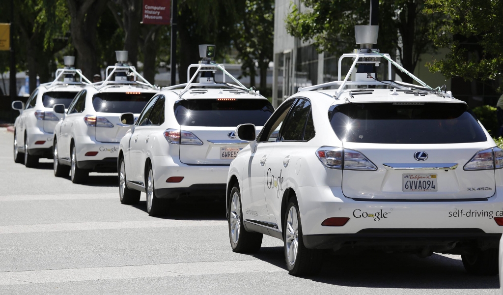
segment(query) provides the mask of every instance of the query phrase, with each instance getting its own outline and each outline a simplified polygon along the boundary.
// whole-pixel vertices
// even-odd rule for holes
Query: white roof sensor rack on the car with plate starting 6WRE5
[[[232,89],[235,92],[242,92],[253,95],[260,94],[260,92],[258,90],[255,90],[254,87],[248,89],[246,88],[246,86],[242,85],[241,82],[239,82],[239,80],[234,78],[228,71],[225,70],[223,64],[216,64],[214,61],[211,60],[215,56],[215,45],[211,44],[199,45],[199,56],[202,58],[202,60],[199,61],[199,63],[189,65],[189,67],[187,68],[188,83],[163,87],[162,90],[174,90],[183,88],[180,94],[178,95],[179,98],[182,98],[182,96],[191,88],[197,88],[197,87],[227,88]],[[194,73],[194,75],[192,75],[192,77],[190,76],[191,68],[196,68],[196,72]],[[217,72],[217,70],[220,70],[222,72],[221,83],[215,82],[215,73]],[[199,82],[195,83],[194,80],[198,77],[199,74],[200,74]],[[228,76],[237,85],[225,82],[226,76]],[[228,91],[227,89],[225,91]]]

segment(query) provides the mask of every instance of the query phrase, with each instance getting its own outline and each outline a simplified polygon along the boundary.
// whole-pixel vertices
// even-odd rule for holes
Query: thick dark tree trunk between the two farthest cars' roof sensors
[[[70,34],[77,51],[77,66],[86,77],[99,72],[97,28],[108,0],[67,0]]]

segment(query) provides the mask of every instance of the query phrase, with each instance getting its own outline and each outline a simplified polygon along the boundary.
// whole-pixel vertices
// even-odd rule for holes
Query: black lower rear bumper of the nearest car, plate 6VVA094
[[[388,250],[418,250],[463,254],[472,249],[497,249],[501,234],[481,229],[364,229],[355,234],[303,235],[309,249],[381,247]]]

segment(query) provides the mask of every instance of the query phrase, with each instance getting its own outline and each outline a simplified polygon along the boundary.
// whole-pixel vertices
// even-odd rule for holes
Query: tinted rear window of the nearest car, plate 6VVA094
[[[487,141],[466,104],[350,103],[332,106],[328,118],[339,139],[365,143]]]

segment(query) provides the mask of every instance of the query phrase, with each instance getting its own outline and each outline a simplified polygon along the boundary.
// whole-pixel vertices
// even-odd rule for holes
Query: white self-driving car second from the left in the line
[[[117,53],[118,64],[107,67],[105,81],[80,91],[54,128],[55,176],[68,176],[71,171],[73,183],[84,183],[90,172],[117,171],[119,141],[129,130],[120,115],[131,112],[138,116],[158,91],[125,64],[127,51],[125,56],[123,52]],[[143,82],[127,81],[128,72]]]

